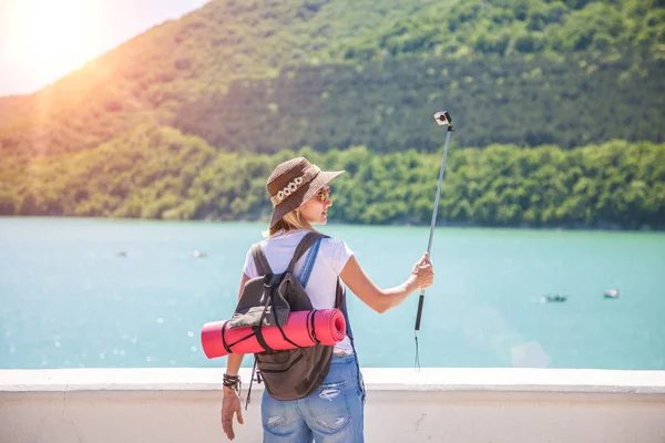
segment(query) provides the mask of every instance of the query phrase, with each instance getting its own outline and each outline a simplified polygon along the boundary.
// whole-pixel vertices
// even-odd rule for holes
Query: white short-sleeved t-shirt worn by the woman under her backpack
[[[263,251],[273,272],[282,274],[286,270],[296,247],[307,233],[308,230],[305,229],[291,230],[286,234],[277,234],[262,241]],[[354,251],[342,240],[337,238],[321,239],[309,281],[305,287],[305,292],[309,296],[311,306],[315,309],[335,307],[337,277],[352,255]],[[306,257],[307,253],[296,262],[294,275],[299,275]],[[258,276],[250,250],[247,251],[245,258],[244,272],[249,278]],[[335,352],[354,353],[348,336],[335,346]]]

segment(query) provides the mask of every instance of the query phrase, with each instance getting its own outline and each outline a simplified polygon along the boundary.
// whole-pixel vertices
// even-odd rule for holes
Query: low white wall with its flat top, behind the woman
[[[224,442],[222,372],[0,371],[0,442]],[[362,373],[367,442],[665,442],[665,371]],[[260,442],[262,393],[255,384],[236,441]]]

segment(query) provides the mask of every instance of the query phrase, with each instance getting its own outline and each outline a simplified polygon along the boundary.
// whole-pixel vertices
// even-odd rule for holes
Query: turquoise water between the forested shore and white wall
[[[224,365],[205,358],[198,332],[233,311],[245,253],[263,228],[0,218],[0,368]],[[407,278],[429,235],[324,230],[383,287]],[[423,367],[520,365],[514,358],[528,349],[528,365],[665,369],[664,234],[438,228],[432,259]],[[621,298],[604,299],[610,288]],[[549,293],[567,300],[542,302]],[[413,367],[417,302],[415,293],[377,315],[349,295],[364,367]]]

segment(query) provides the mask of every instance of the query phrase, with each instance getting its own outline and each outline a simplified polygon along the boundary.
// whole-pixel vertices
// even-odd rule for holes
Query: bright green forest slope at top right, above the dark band
[[[585,53],[644,47],[663,56],[662,0],[484,0],[431,4],[332,49],[337,58]]]

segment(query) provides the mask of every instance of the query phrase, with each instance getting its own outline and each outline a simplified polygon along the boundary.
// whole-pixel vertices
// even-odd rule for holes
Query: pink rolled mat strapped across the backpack
[[[225,329],[228,320],[205,323],[201,330],[201,344],[208,359],[224,357],[233,353],[258,353],[265,351],[259,344],[252,327]],[[314,311],[295,311],[288,315],[286,324],[282,327],[286,337],[301,348],[316,344],[316,339],[321,344],[332,346],[346,336],[346,321],[339,309],[317,309]],[[296,347],[284,339],[276,326],[263,327],[262,333],[266,343],[279,351],[295,349]],[[224,337],[222,337],[224,334]],[[248,338],[246,338],[248,337]],[[246,338],[245,340],[243,340]]]

